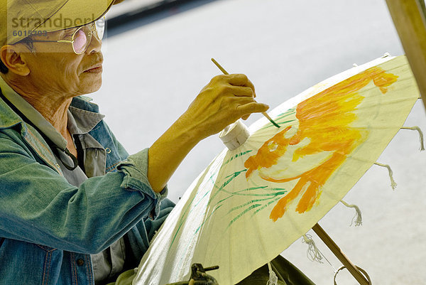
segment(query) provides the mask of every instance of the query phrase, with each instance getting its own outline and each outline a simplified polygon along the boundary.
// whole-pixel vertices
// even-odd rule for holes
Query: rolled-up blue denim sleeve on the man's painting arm
[[[0,237],[94,254],[155,217],[167,195],[149,185],[148,149],[77,188],[10,131],[0,132]]]

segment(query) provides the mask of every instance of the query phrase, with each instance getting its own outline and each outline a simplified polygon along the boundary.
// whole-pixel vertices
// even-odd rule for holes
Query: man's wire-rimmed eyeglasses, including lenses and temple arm
[[[94,21],[94,23],[81,26],[77,28],[74,33],[72,33],[71,40],[58,40],[58,41],[41,41],[41,40],[31,40],[24,39],[21,43],[31,42],[31,43],[70,43],[72,45],[72,50],[77,55],[84,53],[92,41],[92,33],[102,41],[104,37],[105,30],[105,17],[99,18],[99,20]]]

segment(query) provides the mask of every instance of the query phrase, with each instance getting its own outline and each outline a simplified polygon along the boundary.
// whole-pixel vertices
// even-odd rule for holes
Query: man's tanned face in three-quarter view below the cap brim
[[[76,28],[33,36],[33,40],[70,40]],[[70,43],[33,43],[35,53],[23,55],[35,90],[75,97],[99,90],[102,85],[102,42],[92,36],[84,53],[77,55]],[[44,91],[45,90],[45,91]]]

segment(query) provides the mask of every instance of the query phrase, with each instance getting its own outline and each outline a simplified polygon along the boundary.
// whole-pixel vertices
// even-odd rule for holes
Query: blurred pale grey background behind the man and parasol
[[[124,13],[114,14],[114,9],[119,5],[109,12],[111,18]],[[104,82],[91,96],[129,153],[151,146],[220,74],[212,57],[228,72],[248,75],[257,100],[273,109],[353,63],[386,52],[403,54],[384,0],[188,2],[112,26],[107,36]],[[252,115],[246,124],[260,116]],[[405,126],[426,130],[420,100]],[[223,148],[217,136],[198,144],[170,180],[170,199],[177,202]],[[392,190],[386,168],[372,166],[352,188],[345,200],[359,205],[364,225],[349,227],[354,211],[340,204],[320,225],[368,272],[372,284],[426,284],[426,151],[419,151],[417,132],[401,130],[378,162],[391,165],[398,187]],[[307,245],[301,240],[282,255],[316,284],[333,284],[334,270],[341,264],[315,233],[310,234],[335,268],[307,259]],[[337,284],[358,283],[342,271]]]

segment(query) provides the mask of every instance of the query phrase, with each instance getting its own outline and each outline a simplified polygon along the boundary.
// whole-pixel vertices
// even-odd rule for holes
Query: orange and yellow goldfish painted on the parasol
[[[398,76],[386,73],[381,68],[373,67],[300,102],[296,109],[299,121],[297,133],[286,139],[285,134],[291,129],[286,127],[266,141],[256,155],[246,160],[244,166],[247,168],[246,178],[249,178],[256,170],[275,166],[288,146],[297,146],[306,138],[310,140],[309,144],[300,146],[293,154],[292,161],[324,151],[332,154],[320,165],[313,166],[309,171],[295,177],[268,177],[260,173],[264,180],[277,183],[299,179],[295,187],[278,200],[271,211],[271,220],[276,221],[283,217],[288,205],[300,195],[302,197],[296,207],[297,213],[305,213],[315,205],[320,198],[322,185],[368,136],[367,129],[350,127],[357,119],[356,107],[364,100],[364,97],[359,95],[359,90],[373,80],[374,85],[385,94],[388,86],[396,82],[397,78]]]

